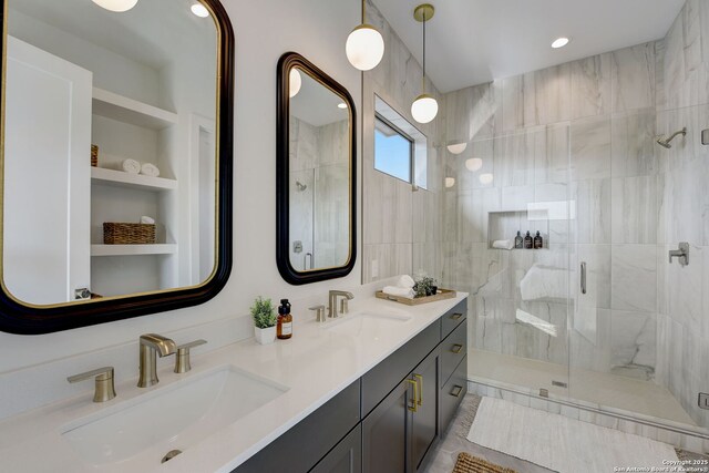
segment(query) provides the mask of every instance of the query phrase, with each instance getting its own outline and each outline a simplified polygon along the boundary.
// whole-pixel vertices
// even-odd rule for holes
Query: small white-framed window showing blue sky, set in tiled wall
[[[374,168],[427,188],[427,138],[379,96],[374,96]]]

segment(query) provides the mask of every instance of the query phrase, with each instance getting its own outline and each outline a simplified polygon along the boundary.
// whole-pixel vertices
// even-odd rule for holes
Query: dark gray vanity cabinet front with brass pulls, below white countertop
[[[233,473],[418,473],[467,391],[466,300]]]

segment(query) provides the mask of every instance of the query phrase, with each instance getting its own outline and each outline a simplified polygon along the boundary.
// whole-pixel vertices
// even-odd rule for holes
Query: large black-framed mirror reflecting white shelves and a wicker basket
[[[0,329],[201,304],[230,270],[217,0],[6,0]]]

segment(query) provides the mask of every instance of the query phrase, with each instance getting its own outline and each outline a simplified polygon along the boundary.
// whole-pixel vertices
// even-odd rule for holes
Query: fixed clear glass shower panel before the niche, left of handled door
[[[444,276],[471,294],[469,376],[477,383],[567,395],[568,156],[559,124],[473,141],[448,166],[446,208],[456,212],[445,227],[458,232],[445,244]],[[514,247],[517,232],[530,233],[532,248]]]

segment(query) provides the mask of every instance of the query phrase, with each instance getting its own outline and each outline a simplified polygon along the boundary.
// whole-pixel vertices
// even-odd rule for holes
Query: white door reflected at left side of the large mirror
[[[90,288],[92,73],[8,38],[3,279],[16,298]]]

